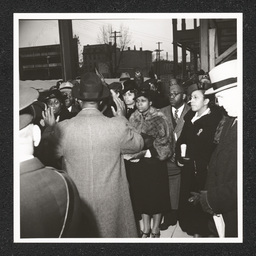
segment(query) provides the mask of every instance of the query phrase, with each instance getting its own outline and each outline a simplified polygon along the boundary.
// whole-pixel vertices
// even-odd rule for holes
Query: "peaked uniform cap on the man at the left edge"
[[[34,118],[33,112],[29,106],[37,100],[39,92],[33,88],[20,88],[19,117],[20,127],[23,129],[30,124]]]

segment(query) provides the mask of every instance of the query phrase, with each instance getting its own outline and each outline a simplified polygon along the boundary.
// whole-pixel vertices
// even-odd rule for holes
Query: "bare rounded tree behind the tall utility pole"
[[[106,52],[106,55],[108,56],[111,63],[110,69],[112,70],[112,75],[116,76],[117,70],[123,57],[123,51],[126,50],[131,43],[131,35],[129,32],[129,27],[124,26],[123,24],[121,24],[119,30],[116,31],[116,38],[114,37],[114,32],[115,31],[111,24],[103,25],[100,28],[100,32],[97,36],[97,41],[100,44],[109,44],[110,42],[112,43],[112,47],[107,48],[108,52]],[[119,52],[119,54],[117,54],[117,52]],[[114,58],[114,65],[113,53],[116,54]]]

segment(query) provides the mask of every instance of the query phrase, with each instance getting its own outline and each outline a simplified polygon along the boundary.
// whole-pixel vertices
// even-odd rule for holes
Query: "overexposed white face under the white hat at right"
[[[239,107],[237,87],[217,92],[215,97],[218,101],[218,105],[222,106],[227,111],[229,116],[237,117]]]

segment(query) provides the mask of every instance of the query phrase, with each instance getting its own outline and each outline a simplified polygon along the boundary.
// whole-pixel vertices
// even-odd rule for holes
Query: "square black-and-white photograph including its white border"
[[[14,242],[243,241],[241,13],[14,14]]]

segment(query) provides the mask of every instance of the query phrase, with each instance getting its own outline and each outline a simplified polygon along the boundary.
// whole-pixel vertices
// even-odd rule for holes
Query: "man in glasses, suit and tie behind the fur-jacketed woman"
[[[179,138],[184,125],[183,117],[190,107],[185,102],[186,94],[184,88],[181,86],[181,81],[171,79],[168,96],[170,105],[162,108],[161,112],[163,112],[168,119],[170,134],[173,136],[173,152],[175,152],[176,141]],[[164,222],[160,225],[161,230],[166,230],[169,226],[175,225],[178,218],[181,170],[175,163],[174,154],[167,161],[167,166],[172,210],[164,215]]]

